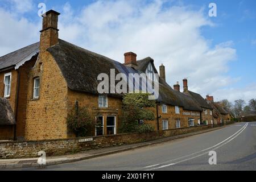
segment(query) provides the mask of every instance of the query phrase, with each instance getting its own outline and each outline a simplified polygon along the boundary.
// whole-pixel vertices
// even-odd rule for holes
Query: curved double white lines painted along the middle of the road
[[[199,152],[195,152],[195,153],[190,154],[190,155],[182,156],[182,157],[177,158],[177,159],[172,159],[172,160],[169,160],[169,161],[164,162],[164,163],[172,162],[172,161],[174,161],[174,160],[179,160],[179,159],[186,158],[186,157],[188,157],[188,156],[192,156],[192,155],[195,155],[195,154],[199,154],[200,152],[210,150],[211,148],[213,148],[212,150],[216,150],[217,148],[220,148],[220,147],[224,146],[225,144],[231,142],[233,139],[235,139],[236,137],[238,137],[238,135],[240,135],[240,134],[243,132],[243,130],[246,129],[246,127],[248,126],[248,124],[249,124],[249,123],[246,123],[240,130],[238,130],[238,131],[237,131],[236,133],[234,133],[232,136],[230,136],[229,138],[223,140],[222,142],[220,142],[220,143],[218,143],[218,144],[216,144],[216,145],[214,145],[214,146],[212,146],[212,147],[206,148],[206,149],[204,149],[204,150],[201,150],[201,151],[199,151]],[[232,138],[232,137],[233,137],[233,138]],[[227,140],[228,140],[228,141],[227,141]],[[220,145],[220,146],[219,146],[219,145]],[[214,147],[215,147],[215,148],[214,148]],[[208,154],[208,152],[209,152],[209,151],[204,152],[203,154],[194,156],[194,157],[192,157],[192,158],[180,160],[179,162],[176,162],[176,163],[166,164],[166,165],[164,165],[164,166],[159,166],[159,165],[161,165],[161,164],[156,164],[156,165],[153,165],[153,166],[159,166],[159,167],[151,168],[151,169],[148,169],[148,170],[146,170],[146,171],[151,171],[151,170],[155,170],[155,169],[160,169],[160,168],[164,168],[164,167],[168,167],[168,166],[174,166],[174,165],[177,164],[177,163],[182,163],[182,162],[185,162],[185,161],[187,161],[187,160],[195,159],[195,158],[198,158],[198,157],[200,157],[200,156],[202,156],[202,155]],[[162,164],[163,164],[163,163],[162,163]]]

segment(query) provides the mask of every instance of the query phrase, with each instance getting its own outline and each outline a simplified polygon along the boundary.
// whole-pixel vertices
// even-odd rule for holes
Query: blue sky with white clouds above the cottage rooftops
[[[255,0],[0,0],[0,56],[39,41],[39,3],[61,13],[60,39],[121,63],[150,56],[168,84],[188,78],[215,101],[256,98]]]

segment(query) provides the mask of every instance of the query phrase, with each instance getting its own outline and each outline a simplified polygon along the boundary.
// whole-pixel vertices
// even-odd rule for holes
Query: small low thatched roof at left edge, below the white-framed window
[[[6,98],[0,97],[0,125],[14,125],[15,117],[13,109]]]

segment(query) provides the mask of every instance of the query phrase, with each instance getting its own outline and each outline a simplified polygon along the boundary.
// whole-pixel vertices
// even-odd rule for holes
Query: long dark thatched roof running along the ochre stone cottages
[[[128,77],[129,73],[145,72],[147,65],[152,63],[155,73],[158,73],[154,66],[154,60],[150,57],[137,61],[138,67],[134,69],[61,39],[59,39],[59,44],[47,50],[59,65],[68,88],[79,92],[98,94],[97,87],[100,81],[97,80],[97,77],[100,73],[110,76],[110,69],[115,69],[115,74],[124,73]],[[120,95],[112,94],[112,96]],[[192,97],[177,93],[162,79],[159,80],[158,101],[174,106],[183,106],[186,110],[201,111],[200,106]]]

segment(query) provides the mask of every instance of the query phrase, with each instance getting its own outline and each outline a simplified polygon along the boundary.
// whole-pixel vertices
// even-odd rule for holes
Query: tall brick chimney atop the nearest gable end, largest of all
[[[49,10],[43,14],[43,28],[40,31],[40,52],[59,43],[58,16],[60,13]]]

